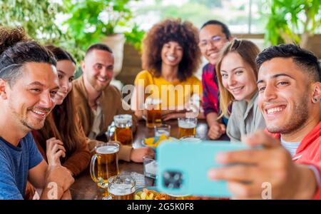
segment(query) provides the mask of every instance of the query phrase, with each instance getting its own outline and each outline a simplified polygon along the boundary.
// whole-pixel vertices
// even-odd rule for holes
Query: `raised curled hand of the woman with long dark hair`
[[[63,142],[56,138],[50,138],[46,141],[46,156],[48,165],[61,165],[60,158],[66,157],[66,149]]]

